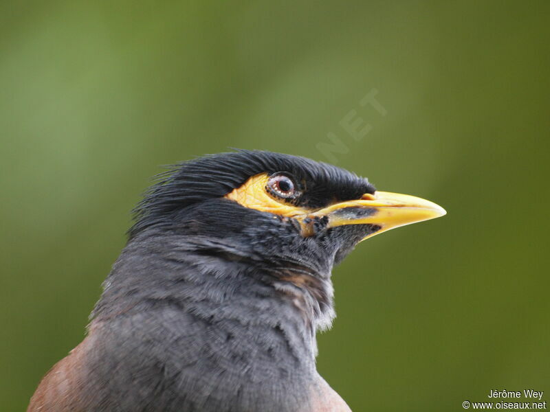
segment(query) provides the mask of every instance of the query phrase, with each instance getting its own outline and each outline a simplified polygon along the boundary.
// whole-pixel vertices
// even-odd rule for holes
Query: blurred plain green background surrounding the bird
[[[318,367],[352,409],[550,393],[549,21],[547,1],[2,2],[1,411],[83,339],[159,165],[231,147],[448,209],[333,273]]]

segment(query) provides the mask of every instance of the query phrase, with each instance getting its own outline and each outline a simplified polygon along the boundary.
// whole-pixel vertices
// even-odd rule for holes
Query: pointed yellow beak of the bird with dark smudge
[[[439,218],[447,214],[443,207],[422,198],[390,192],[364,194],[360,200],[335,203],[309,216],[329,218],[328,227],[342,225],[377,225],[380,230],[371,238],[386,230],[411,223]]]

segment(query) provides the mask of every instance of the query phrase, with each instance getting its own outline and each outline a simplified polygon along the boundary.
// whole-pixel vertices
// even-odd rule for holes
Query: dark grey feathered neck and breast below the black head
[[[94,366],[96,380],[109,379],[105,396],[138,402],[156,388],[166,411],[307,404],[315,333],[333,317],[329,278],[209,246],[163,233],[124,249],[92,313],[104,340],[97,361],[111,365]],[[141,384],[128,387],[129,374]]]

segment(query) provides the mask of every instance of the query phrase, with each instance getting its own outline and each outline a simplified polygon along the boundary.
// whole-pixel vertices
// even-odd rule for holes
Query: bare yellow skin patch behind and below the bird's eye
[[[268,179],[269,176],[265,173],[256,174],[241,187],[237,187],[223,197],[236,201],[239,205],[250,209],[267,211],[287,218],[303,216],[311,212],[309,209],[289,205],[282,199],[278,200],[270,195],[265,189]]]

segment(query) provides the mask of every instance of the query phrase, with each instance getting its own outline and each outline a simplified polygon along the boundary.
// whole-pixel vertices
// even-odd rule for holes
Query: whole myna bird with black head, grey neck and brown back
[[[85,339],[27,411],[351,411],[316,369],[332,268],[362,240],[445,213],[305,157],[177,163],[133,210]]]

